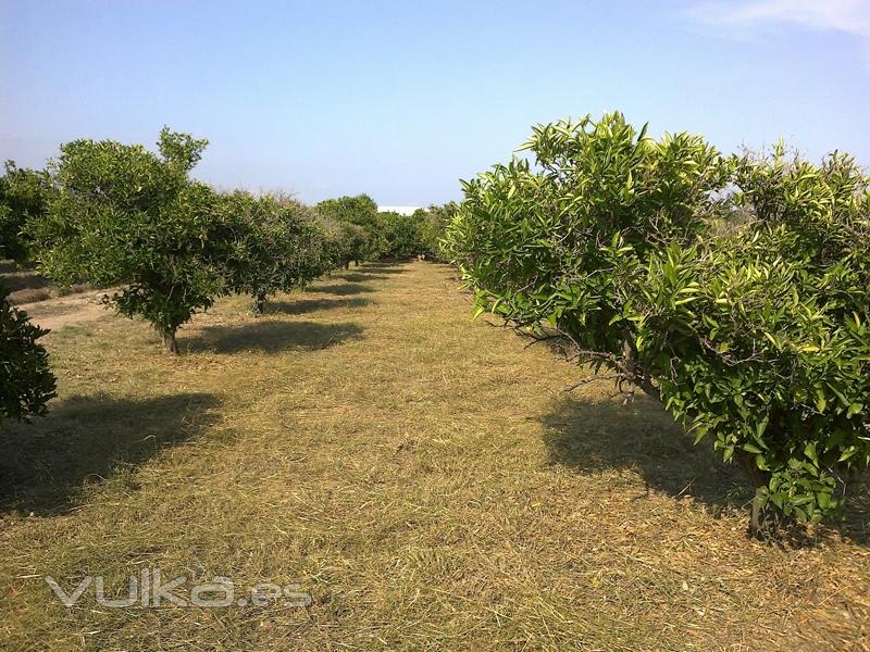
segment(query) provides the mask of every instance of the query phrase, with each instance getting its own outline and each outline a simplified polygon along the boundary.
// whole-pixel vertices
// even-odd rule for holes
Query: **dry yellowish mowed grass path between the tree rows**
[[[866,512],[745,537],[735,469],[661,410],[470,321],[440,265],[366,265],[185,328],[48,338],[52,413],[2,435],[3,650],[858,650]],[[865,542],[862,542],[862,540]],[[309,609],[105,609],[141,568],[296,582]]]

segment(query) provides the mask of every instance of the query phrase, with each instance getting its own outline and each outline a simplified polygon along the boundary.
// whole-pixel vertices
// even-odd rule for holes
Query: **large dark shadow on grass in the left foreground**
[[[83,489],[135,469],[161,450],[212,424],[207,393],[148,399],[74,397],[32,424],[4,424],[0,437],[0,511],[65,513]]]

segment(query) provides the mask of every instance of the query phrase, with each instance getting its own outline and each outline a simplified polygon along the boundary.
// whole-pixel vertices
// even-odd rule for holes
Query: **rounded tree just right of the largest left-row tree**
[[[223,261],[227,289],[253,297],[263,312],[266,298],[289,292],[334,264],[313,211],[294,200],[233,192],[215,199],[219,223],[229,225],[229,251]]]

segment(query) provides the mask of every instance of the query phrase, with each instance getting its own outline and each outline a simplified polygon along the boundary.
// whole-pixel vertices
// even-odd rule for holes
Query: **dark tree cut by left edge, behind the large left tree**
[[[0,260],[12,259],[20,263],[30,258],[30,242],[25,225],[46,212],[48,176],[17,167],[7,161],[0,176]]]

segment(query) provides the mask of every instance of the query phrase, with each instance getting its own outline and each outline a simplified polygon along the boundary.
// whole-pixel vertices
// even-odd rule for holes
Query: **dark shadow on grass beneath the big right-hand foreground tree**
[[[724,463],[710,441],[695,446],[693,437],[652,399],[641,397],[624,406],[616,400],[567,399],[543,423],[552,464],[579,473],[633,469],[647,489],[689,497],[713,514],[744,510],[748,524],[753,491],[743,471]],[[825,523],[824,528],[855,543],[870,543],[870,487],[865,484],[852,493],[845,521]],[[818,540],[808,539],[799,528],[784,534],[798,546]]]

